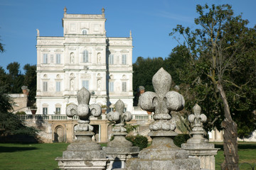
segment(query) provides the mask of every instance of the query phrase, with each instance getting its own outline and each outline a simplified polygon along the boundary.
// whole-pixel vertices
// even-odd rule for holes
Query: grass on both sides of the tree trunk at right
[[[224,161],[223,144],[215,143],[215,148],[220,148],[215,156],[215,169],[220,170],[220,164]],[[238,142],[238,156],[240,170],[256,169],[256,143],[255,142]],[[249,164],[246,164],[249,163]]]

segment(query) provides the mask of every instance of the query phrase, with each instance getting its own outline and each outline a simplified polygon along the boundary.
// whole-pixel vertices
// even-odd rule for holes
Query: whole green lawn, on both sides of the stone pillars
[[[102,146],[105,146],[103,144]],[[56,157],[61,157],[62,152],[67,149],[66,143],[53,144],[0,144],[0,169],[11,170],[42,170],[58,169]],[[215,143],[215,147],[223,148],[221,143]],[[256,164],[256,143],[239,143],[239,163],[248,162],[253,166]],[[223,162],[223,149],[218,151],[215,157],[216,170],[220,169]],[[256,168],[256,167],[255,167]],[[252,169],[247,164],[241,164],[240,170]]]

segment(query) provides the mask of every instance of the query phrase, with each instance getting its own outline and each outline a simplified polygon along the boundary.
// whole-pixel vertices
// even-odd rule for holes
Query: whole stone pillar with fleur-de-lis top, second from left
[[[112,129],[114,140],[109,142],[107,147],[103,147],[103,150],[110,161],[107,169],[124,169],[127,159],[138,156],[139,147],[132,147],[132,142],[125,139],[127,130],[124,128],[124,123],[132,120],[132,114],[129,111],[124,113],[124,102],[120,99],[114,107],[116,111],[107,114],[107,120],[114,122]]]

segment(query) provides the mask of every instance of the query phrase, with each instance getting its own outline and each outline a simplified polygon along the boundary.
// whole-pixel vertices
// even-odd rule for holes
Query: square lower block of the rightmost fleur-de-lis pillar
[[[214,144],[210,143],[185,143],[181,145],[182,149],[188,152],[188,157],[200,159],[201,169],[215,170],[215,155],[218,148],[214,148]]]

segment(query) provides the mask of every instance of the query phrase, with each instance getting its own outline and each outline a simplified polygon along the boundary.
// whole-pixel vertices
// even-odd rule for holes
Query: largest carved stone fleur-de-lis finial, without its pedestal
[[[139,106],[144,111],[154,112],[154,122],[149,125],[150,135],[157,132],[171,132],[173,135],[176,125],[171,123],[171,111],[181,111],[185,105],[184,98],[171,88],[171,75],[163,68],[159,69],[152,78],[154,91],[146,91],[139,97]]]

